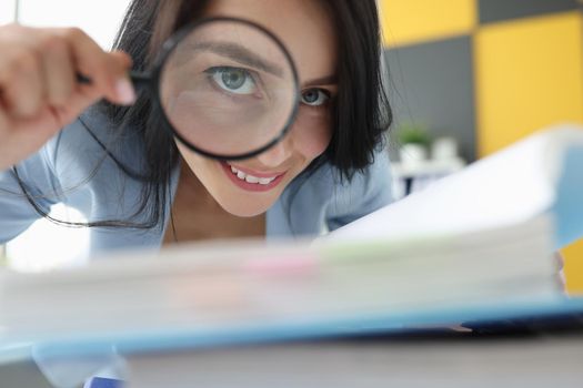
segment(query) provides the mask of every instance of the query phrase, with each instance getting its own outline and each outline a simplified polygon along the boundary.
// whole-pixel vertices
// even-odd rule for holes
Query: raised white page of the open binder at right
[[[583,144],[582,126],[541,131],[326,238],[455,234],[531,219],[553,205],[562,156],[574,143]]]

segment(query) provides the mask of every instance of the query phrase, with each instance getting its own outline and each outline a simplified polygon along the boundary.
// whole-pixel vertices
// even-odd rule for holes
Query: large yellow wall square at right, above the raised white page
[[[479,154],[542,126],[583,122],[580,12],[482,25],[475,34]]]

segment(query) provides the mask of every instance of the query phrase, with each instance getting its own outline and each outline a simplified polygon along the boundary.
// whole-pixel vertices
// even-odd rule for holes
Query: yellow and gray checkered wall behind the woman
[[[468,162],[532,132],[583,122],[583,3],[576,0],[382,0],[399,121],[453,136]],[[563,251],[583,292],[583,242]]]

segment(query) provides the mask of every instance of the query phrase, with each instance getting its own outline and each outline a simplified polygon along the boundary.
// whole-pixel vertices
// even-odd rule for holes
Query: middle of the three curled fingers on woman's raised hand
[[[51,106],[66,104],[76,88],[73,60],[67,41],[51,35],[42,43],[46,98]]]

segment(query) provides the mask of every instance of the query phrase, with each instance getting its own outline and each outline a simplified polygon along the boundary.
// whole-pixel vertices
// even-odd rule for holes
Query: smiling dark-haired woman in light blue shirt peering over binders
[[[177,143],[125,78],[130,67],[148,69],[173,31],[220,16],[278,35],[301,89],[288,135],[258,156],[228,162],[234,177]],[[374,0],[133,0],[115,49],[102,52],[78,30],[0,28],[0,244],[49,217],[56,203],[87,216],[87,224],[53,221],[91,226],[90,252],[99,254],[313,236],[390,202],[383,131],[391,112]],[[76,73],[92,83],[79,84]],[[101,98],[110,103],[86,110]],[[237,182],[258,177],[278,183],[253,191]]]

